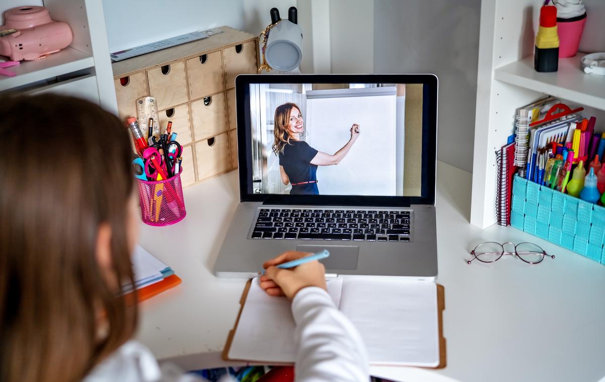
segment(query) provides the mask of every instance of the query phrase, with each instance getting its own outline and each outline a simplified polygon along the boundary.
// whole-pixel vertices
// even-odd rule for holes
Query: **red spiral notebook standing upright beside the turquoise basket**
[[[515,166],[515,143],[502,146],[496,151],[497,187],[495,195],[496,221],[500,225],[511,224],[512,178],[517,172]]]

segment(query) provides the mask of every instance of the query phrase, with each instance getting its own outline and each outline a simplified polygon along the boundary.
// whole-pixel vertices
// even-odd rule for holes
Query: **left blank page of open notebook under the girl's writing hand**
[[[338,306],[342,279],[328,280],[327,287]],[[267,295],[256,277],[250,285],[228,356],[232,360],[292,363],[296,355],[294,329],[290,301]]]

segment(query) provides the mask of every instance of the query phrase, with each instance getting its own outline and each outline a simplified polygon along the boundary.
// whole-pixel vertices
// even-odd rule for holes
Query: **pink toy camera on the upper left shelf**
[[[73,34],[65,22],[52,21],[47,8],[24,6],[4,13],[0,26],[0,54],[13,61],[35,60],[71,44]]]

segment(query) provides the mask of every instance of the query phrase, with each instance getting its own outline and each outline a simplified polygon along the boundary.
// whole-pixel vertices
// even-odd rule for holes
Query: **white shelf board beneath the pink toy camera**
[[[48,57],[36,61],[22,61],[21,65],[7,68],[15,72],[15,77],[0,76],[0,91],[17,88],[62,74],[91,68],[94,59],[88,54],[82,53],[71,47],[49,54]]]

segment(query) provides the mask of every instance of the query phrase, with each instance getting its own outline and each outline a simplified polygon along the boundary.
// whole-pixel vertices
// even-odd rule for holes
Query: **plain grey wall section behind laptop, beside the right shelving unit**
[[[437,157],[473,170],[480,0],[374,1],[374,73],[439,77]]]

